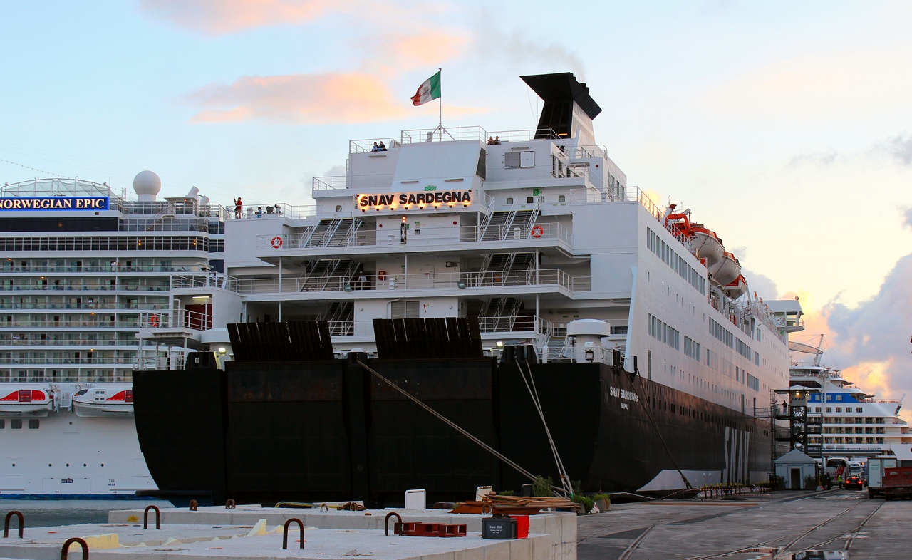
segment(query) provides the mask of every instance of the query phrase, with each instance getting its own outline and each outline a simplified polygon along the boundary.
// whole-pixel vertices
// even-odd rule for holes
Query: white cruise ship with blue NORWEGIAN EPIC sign
[[[132,371],[181,368],[212,327],[211,300],[174,297],[171,277],[222,269],[225,209],[195,189],[157,201],[150,171],[134,189],[138,201],[81,180],[0,191],[0,497],[155,489]],[[166,337],[140,341],[140,327]]]

